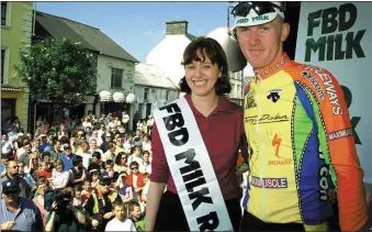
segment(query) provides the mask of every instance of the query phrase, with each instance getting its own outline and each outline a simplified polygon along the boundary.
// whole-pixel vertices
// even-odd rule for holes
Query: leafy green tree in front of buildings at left
[[[15,68],[29,85],[31,98],[50,102],[55,112],[81,104],[95,92],[97,55],[79,43],[47,38],[21,49],[20,56]]]

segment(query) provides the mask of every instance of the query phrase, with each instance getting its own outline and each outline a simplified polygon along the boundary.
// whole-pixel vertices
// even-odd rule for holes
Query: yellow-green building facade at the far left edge
[[[20,49],[31,44],[33,2],[1,1],[1,124],[18,117],[24,132],[29,131],[30,90],[15,66]]]

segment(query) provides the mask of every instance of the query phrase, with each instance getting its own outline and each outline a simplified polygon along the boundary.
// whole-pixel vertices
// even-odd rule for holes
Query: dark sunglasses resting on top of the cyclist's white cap
[[[253,10],[258,15],[262,15],[270,12],[275,12],[275,8],[284,12],[285,5],[279,7],[272,2],[240,2],[232,10],[234,16],[247,16],[250,10]]]

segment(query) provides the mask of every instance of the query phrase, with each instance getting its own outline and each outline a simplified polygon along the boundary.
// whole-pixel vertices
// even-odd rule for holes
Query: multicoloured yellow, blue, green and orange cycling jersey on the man
[[[361,229],[367,222],[363,172],[337,80],[286,54],[255,75],[244,106],[250,146],[245,208],[264,222],[304,223],[312,230],[332,217],[327,191],[334,188],[342,231]]]

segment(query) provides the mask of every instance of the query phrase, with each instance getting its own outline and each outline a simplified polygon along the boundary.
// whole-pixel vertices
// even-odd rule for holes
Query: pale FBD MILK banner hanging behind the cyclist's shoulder
[[[301,2],[295,60],[329,70],[342,87],[364,181],[372,184],[372,2]],[[342,155],[342,154],[340,154]]]

